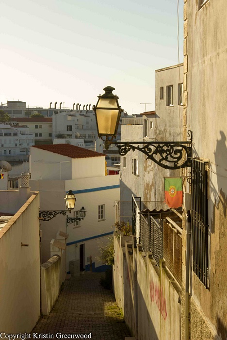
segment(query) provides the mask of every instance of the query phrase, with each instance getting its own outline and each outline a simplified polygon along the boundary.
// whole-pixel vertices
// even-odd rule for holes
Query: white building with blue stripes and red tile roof
[[[81,268],[101,270],[103,263],[98,245],[113,234],[115,222],[114,201],[119,200],[119,175],[105,176],[105,155],[70,144],[31,147],[30,170],[33,190],[40,192],[41,210],[65,210],[63,197],[72,190],[77,200],[74,211],[68,216],[78,216],[81,206],[87,210],[84,220],[69,224],[66,217],[56,216],[41,222],[42,261],[49,259],[50,241],[59,230],[67,231],[67,261],[80,259]],[[79,215],[80,217],[80,215]]]

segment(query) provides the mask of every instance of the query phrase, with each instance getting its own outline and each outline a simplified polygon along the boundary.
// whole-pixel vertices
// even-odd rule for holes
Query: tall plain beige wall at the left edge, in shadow
[[[5,333],[31,332],[40,315],[38,209],[35,193],[0,231],[0,330]]]

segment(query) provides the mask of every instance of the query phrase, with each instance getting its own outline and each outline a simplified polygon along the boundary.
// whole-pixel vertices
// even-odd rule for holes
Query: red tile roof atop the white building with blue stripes
[[[71,158],[88,158],[88,157],[100,157],[105,155],[96,151],[88,150],[83,147],[74,146],[71,144],[45,144],[35,145],[37,149],[46,150],[49,152],[57,153],[59,155],[71,157]]]

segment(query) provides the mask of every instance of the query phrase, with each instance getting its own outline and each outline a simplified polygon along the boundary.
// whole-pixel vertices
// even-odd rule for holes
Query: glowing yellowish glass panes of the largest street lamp
[[[114,98],[100,98],[97,103],[96,117],[99,135],[115,135],[120,114]]]

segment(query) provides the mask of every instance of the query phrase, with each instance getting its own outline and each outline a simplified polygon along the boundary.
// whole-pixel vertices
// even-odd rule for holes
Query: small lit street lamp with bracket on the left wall
[[[66,212],[72,211],[74,209],[76,202],[76,197],[73,194],[72,190],[69,190],[68,193],[65,195],[65,205],[67,210],[39,210],[39,220],[40,221],[49,221],[53,217],[58,214],[66,215]]]

